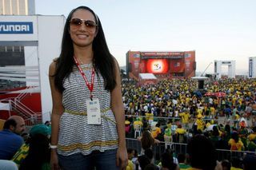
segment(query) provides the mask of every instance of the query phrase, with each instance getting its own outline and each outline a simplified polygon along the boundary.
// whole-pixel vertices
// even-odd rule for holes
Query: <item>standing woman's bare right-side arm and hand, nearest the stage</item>
[[[126,168],[126,165],[128,164],[128,156],[126,150],[125,111],[122,103],[121,77],[117,61],[115,61],[115,74],[117,85],[111,91],[111,109],[114,113],[118,129],[117,163],[121,168]],[[121,162],[119,162],[119,160],[121,160]]]

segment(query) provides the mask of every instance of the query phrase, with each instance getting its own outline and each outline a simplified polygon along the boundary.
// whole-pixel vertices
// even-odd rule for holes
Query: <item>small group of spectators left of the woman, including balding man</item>
[[[50,122],[26,132],[22,117],[11,116],[0,131],[0,169],[50,170]]]

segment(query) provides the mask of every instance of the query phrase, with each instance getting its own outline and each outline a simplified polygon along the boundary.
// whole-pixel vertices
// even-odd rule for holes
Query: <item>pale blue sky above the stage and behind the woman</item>
[[[256,57],[255,0],[35,0],[42,15],[67,16],[77,6],[98,14],[121,66],[128,50],[195,50],[197,72],[214,60],[235,60],[236,73],[245,74],[248,57]],[[206,73],[213,72],[212,64]]]

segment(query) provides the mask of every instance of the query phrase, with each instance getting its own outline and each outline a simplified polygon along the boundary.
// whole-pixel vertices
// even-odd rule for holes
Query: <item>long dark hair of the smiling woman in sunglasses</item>
[[[105,83],[106,90],[113,90],[116,81],[116,73],[115,73],[115,64],[114,57],[111,55],[110,50],[106,44],[106,38],[104,32],[102,30],[102,24],[98,19],[98,16],[87,6],[78,6],[74,10],[72,10],[69,16],[66,18],[66,24],[64,26],[64,32],[62,36],[62,51],[60,56],[56,61],[56,71],[54,74],[54,84],[60,92],[63,92],[63,79],[68,77],[72,72],[74,66],[74,47],[73,41],[70,38],[70,19],[72,18],[74,12],[76,10],[89,10],[91,14],[94,15],[98,34],[94,38],[93,42],[93,51],[94,51],[94,59],[93,65],[94,69],[98,73],[98,71],[102,74]]]

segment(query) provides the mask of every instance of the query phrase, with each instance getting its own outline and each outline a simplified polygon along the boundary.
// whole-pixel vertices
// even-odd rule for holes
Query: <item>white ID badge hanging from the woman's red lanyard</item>
[[[101,110],[99,106],[98,98],[93,100],[86,100],[87,108],[87,123],[88,125],[100,125],[101,124]]]

